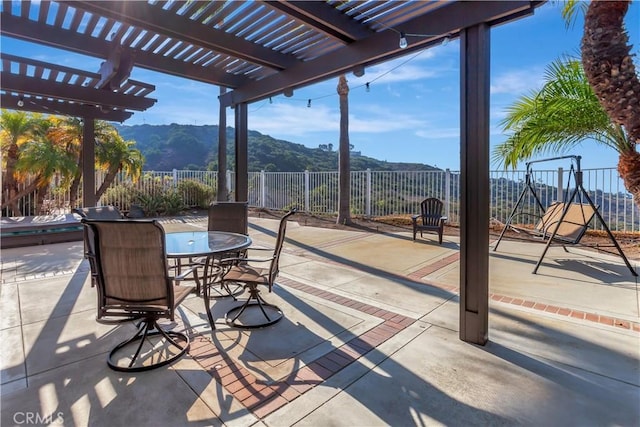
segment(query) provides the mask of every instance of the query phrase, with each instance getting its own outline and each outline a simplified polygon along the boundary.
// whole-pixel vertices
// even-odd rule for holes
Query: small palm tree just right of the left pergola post
[[[101,138],[96,140],[96,163],[106,171],[104,181],[96,192],[96,200],[104,194],[116,179],[118,172],[136,180],[142,173],[144,156],[140,150],[133,148],[135,141],[125,141],[115,128],[102,132]]]

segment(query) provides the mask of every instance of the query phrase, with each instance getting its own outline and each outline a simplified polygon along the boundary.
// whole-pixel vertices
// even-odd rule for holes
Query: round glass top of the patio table
[[[165,234],[167,257],[206,256],[251,246],[251,238],[226,231],[183,231]]]

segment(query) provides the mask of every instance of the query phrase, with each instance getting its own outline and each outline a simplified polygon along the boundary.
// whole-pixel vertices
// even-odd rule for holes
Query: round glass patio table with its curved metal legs
[[[249,236],[226,231],[182,231],[165,234],[167,258],[175,259],[178,269],[184,259],[188,259],[191,264],[194,258],[204,258],[203,261],[199,261],[204,267],[202,297],[211,329],[215,329],[210,305],[211,286],[218,283],[217,279],[224,268],[218,261],[227,257],[237,257],[239,252],[247,249],[251,243]],[[200,282],[195,269],[194,278],[199,288]],[[226,291],[229,296],[234,296],[231,290]]]

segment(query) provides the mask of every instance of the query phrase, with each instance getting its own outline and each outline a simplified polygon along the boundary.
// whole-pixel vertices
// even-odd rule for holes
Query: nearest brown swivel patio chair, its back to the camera
[[[191,287],[174,285],[168,274],[164,229],[155,220],[91,220],[87,257],[98,290],[100,323],[137,322],[137,331],[116,345],[107,364],[116,371],[146,371],[172,363],[189,349],[189,337],[167,331]],[[175,278],[179,280],[179,278]]]

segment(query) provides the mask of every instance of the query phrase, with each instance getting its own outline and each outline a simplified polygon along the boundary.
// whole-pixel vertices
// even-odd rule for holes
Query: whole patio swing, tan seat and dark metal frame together
[[[572,177],[575,180],[575,188],[571,191],[571,194],[569,195],[568,198],[565,199],[565,201],[556,202],[556,203],[550,205],[548,208],[545,209],[545,207],[542,205],[542,202],[540,201],[540,198],[538,197],[538,194],[536,193],[535,188],[533,186],[533,182],[532,182],[533,167],[532,167],[532,164],[534,164],[534,163],[542,163],[542,162],[549,162],[549,161],[554,161],[554,160],[562,160],[562,159],[571,159],[571,167],[569,168],[569,179],[567,180],[567,192],[565,192],[565,194],[568,193]],[[613,235],[613,233],[609,229],[609,226],[604,221],[604,218],[602,218],[602,215],[600,214],[598,206],[596,206],[593,203],[593,200],[589,196],[589,193],[587,193],[587,191],[585,190],[585,188],[584,188],[584,186],[582,184],[582,182],[583,182],[582,177],[583,176],[582,176],[582,169],[581,169],[581,165],[580,165],[581,159],[582,159],[581,156],[570,155],[570,156],[560,156],[560,157],[551,157],[551,158],[547,158],[547,159],[533,160],[533,161],[530,161],[530,162],[526,163],[525,186],[522,189],[522,191],[520,192],[520,196],[518,197],[518,201],[516,202],[515,206],[511,210],[511,213],[509,214],[509,217],[507,218],[507,221],[504,224],[502,232],[500,233],[500,237],[498,237],[498,240],[496,241],[495,246],[493,247],[493,251],[495,252],[495,251],[498,250],[498,245],[500,244],[500,241],[504,237],[505,232],[509,228],[511,228],[511,229],[513,229],[513,230],[515,230],[517,232],[524,231],[524,232],[527,232],[527,233],[532,234],[534,236],[541,237],[543,240],[546,240],[546,245],[545,245],[544,250],[542,251],[542,254],[540,255],[540,258],[538,259],[538,262],[536,263],[536,266],[533,269],[533,274],[537,274],[538,268],[540,268],[540,265],[542,264],[542,260],[544,259],[545,255],[547,254],[547,251],[549,250],[549,247],[553,243],[557,243],[557,244],[562,245],[562,247],[565,250],[565,252],[568,252],[568,250],[566,248],[566,245],[578,245],[578,244],[580,244],[580,240],[582,239],[582,236],[586,233],[587,229],[589,228],[589,223],[591,222],[593,217],[596,217],[598,219],[598,221],[600,221],[600,223],[601,223],[602,227],[604,228],[604,230],[606,231],[607,235],[609,236],[609,239],[613,243],[613,246],[617,249],[617,254],[622,258],[622,260],[624,261],[625,265],[627,266],[627,268],[629,269],[631,274],[633,276],[637,277],[638,273],[635,271],[635,269],[629,263],[629,260],[627,259],[627,256],[622,251],[622,248],[620,247],[620,244],[618,244],[618,241],[616,240],[615,236]],[[518,208],[523,203],[526,194],[529,193],[529,192],[533,195],[535,203],[540,208],[540,211],[543,213],[543,215],[540,218],[540,222],[538,223],[538,225],[536,225],[536,228],[531,229],[531,230],[530,229],[518,228],[518,227],[515,227],[512,224],[513,218],[520,214],[518,212]],[[575,200],[577,200],[578,203],[574,203]],[[585,200],[586,200],[587,203],[584,203]],[[561,209],[561,213],[558,215],[557,212],[558,212],[558,208],[559,208],[559,206],[558,206],[559,203],[562,204],[562,209]],[[576,206],[580,206],[580,209],[582,211],[582,223],[578,223],[578,222],[571,223],[570,221],[566,221],[567,215],[571,211],[574,211],[576,209]],[[589,206],[593,211],[592,214],[589,215],[588,219],[587,219],[587,217],[586,217],[587,215],[585,214],[585,211],[584,211],[584,206]],[[554,207],[554,212],[551,212],[551,209],[550,209],[551,207]],[[548,214],[550,214],[550,215],[548,215]],[[548,225],[544,225],[545,224],[545,219],[550,220],[550,223]],[[579,225],[579,226],[583,227],[583,229],[579,230],[578,234],[573,239],[568,239],[566,237],[563,237],[562,234],[559,234],[559,231],[561,230],[561,228],[563,226],[566,226],[567,223],[573,224],[574,226],[575,225]],[[544,225],[543,229],[538,229],[540,224]],[[549,233],[550,230],[552,230],[551,233]],[[583,245],[583,246],[587,246],[588,247],[589,245]],[[613,252],[611,252],[611,253],[613,253]]]

